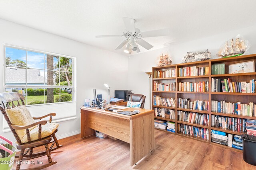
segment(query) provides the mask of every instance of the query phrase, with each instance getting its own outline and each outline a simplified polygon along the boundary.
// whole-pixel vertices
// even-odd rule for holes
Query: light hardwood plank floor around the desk
[[[240,152],[208,145],[178,135],[155,130],[156,149],[137,165],[130,166],[130,146],[120,140],[74,135],[59,140],[64,147],[53,151],[57,164],[46,170],[255,170]],[[47,156],[35,160],[47,162]],[[21,168],[32,167],[22,165]]]

